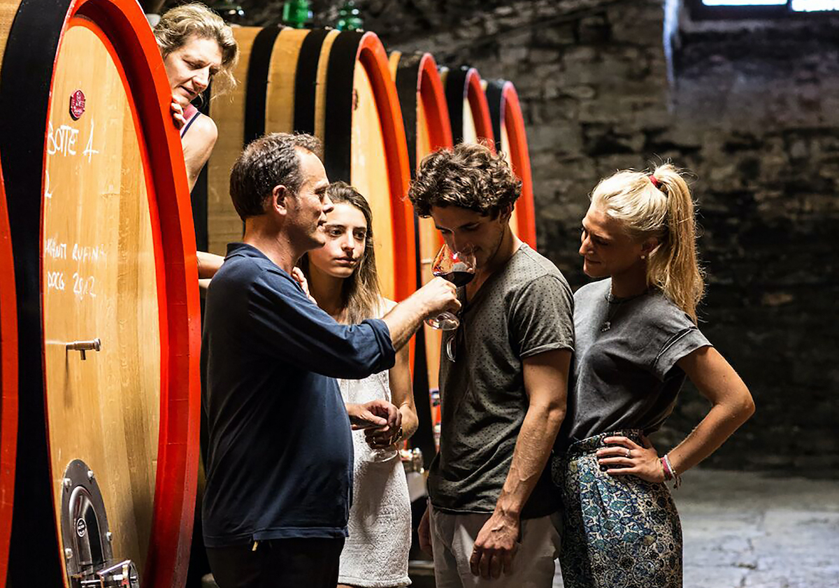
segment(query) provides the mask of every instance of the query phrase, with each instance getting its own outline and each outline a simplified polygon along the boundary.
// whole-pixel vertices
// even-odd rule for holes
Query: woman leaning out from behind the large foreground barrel
[[[232,68],[238,47],[230,27],[201,3],[184,4],[164,13],[154,27],[154,36],[172,88],[172,117],[180,127],[191,191],[218,137],[216,123],[201,115],[192,101],[211,81],[221,85],[222,91],[236,84]],[[198,277],[211,278],[222,261],[221,256],[198,252]]]

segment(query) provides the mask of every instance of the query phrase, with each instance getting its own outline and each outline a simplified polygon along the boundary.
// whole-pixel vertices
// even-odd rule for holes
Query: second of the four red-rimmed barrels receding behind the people
[[[425,156],[439,148],[451,148],[451,122],[446,106],[446,94],[434,57],[428,53],[390,55],[391,75],[396,81],[399,104],[408,142],[409,164],[414,177]],[[426,284],[433,276],[431,262],[443,244],[434,221],[415,216],[417,248],[417,280]],[[414,443],[423,450],[426,460],[436,452],[430,408],[431,391],[439,388],[440,341],[439,330],[428,325],[416,336],[414,365],[414,397],[420,418],[420,429]]]

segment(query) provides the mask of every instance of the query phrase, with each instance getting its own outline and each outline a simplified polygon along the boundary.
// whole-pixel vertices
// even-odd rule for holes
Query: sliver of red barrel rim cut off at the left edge
[[[6,585],[18,445],[18,317],[12,236],[0,174],[0,586]]]

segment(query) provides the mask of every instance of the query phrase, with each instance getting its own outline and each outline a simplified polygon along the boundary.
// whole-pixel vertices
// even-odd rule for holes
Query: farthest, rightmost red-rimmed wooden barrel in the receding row
[[[533,201],[533,176],[530,174],[530,155],[527,133],[524,131],[519,94],[513,82],[487,82],[487,103],[492,117],[492,134],[496,148],[503,152],[513,173],[522,181],[522,194],[513,209],[510,226],[519,239],[536,248],[536,214]]]

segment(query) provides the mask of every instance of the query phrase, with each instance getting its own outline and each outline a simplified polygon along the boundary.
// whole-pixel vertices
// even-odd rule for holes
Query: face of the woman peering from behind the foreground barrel
[[[213,76],[221,70],[221,47],[213,39],[190,36],[178,49],[163,60],[172,95],[181,107],[210,86]]]

